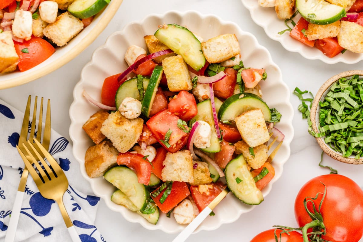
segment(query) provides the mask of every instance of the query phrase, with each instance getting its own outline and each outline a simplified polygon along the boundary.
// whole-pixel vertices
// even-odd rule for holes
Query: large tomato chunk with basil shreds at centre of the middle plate
[[[150,128],[159,143],[166,148],[167,151],[172,153],[181,149],[187,143],[188,139],[188,134],[178,128],[178,119],[178,116],[172,114],[168,109],[164,109],[152,116],[146,122],[147,127]],[[172,132],[168,142],[170,147],[167,147],[161,140],[165,140],[165,135],[169,129]]]

